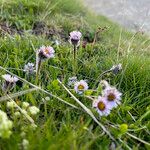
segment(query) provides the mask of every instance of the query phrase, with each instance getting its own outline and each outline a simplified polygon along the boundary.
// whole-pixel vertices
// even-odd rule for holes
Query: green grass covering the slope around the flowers
[[[67,85],[72,73],[72,47],[68,43],[68,34],[72,30],[80,30],[83,38],[93,41],[98,27],[107,30],[98,35],[94,46],[87,44],[78,50],[78,79],[87,79],[90,89],[96,89],[99,75],[117,63],[123,64],[123,71],[118,75],[107,74],[103,79],[116,86],[122,93],[122,104],[114,109],[108,117],[99,121],[116,139],[116,149],[149,149],[132,138],[128,133],[150,143],[150,40],[141,33],[133,34],[112,23],[103,16],[89,12],[79,1],[70,0],[3,0],[0,1],[0,20],[7,24],[11,32],[0,30],[0,66],[21,78],[36,84],[35,77],[28,79],[22,70],[27,62],[35,62],[35,50],[42,45],[53,45],[53,41],[61,41],[60,46],[53,45],[56,56],[43,63],[39,77],[42,89],[53,93],[63,100],[79,107],[74,109],[50,96],[50,101],[42,102],[48,96],[44,92],[34,91],[16,97],[20,103],[29,102],[40,108],[40,114],[33,118],[38,126],[35,131],[25,118],[14,119],[1,102],[1,109],[13,120],[13,131],[9,139],[0,139],[0,149],[22,148],[22,139],[29,140],[29,149],[108,149],[112,140],[102,129],[80,108],[56,81],[63,79]],[[44,30],[53,31],[40,35],[32,34],[36,22],[46,26]],[[17,34],[21,31],[21,35]],[[57,68],[56,68],[57,67]],[[5,74],[4,70],[0,75]],[[31,88],[23,82],[17,85],[12,93]],[[88,108],[91,102],[73,94]],[[4,93],[0,91],[0,95]],[[92,110],[97,116],[97,113]],[[98,116],[97,116],[98,117]],[[113,126],[128,125],[128,133],[122,128]],[[21,132],[25,131],[25,137]],[[121,140],[121,141],[120,141]],[[20,144],[20,146],[19,146]],[[128,147],[127,147],[127,146]]]

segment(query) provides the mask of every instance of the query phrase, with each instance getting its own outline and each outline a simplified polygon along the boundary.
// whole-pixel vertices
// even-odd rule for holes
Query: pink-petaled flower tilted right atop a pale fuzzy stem
[[[51,46],[42,46],[39,50],[38,50],[38,56],[41,59],[45,59],[45,58],[53,58],[55,54],[55,51],[53,49],[53,47]]]

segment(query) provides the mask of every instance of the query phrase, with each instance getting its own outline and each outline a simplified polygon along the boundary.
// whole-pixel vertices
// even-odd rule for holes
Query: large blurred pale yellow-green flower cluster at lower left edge
[[[12,121],[8,120],[5,112],[0,110],[0,137],[9,138],[11,135]]]

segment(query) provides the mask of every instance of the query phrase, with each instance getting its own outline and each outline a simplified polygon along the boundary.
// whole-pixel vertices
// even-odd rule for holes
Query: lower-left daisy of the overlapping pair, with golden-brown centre
[[[101,96],[99,96],[97,100],[93,101],[93,107],[100,116],[108,116],[111,111],[111,107],[108,105],[106,98]]]

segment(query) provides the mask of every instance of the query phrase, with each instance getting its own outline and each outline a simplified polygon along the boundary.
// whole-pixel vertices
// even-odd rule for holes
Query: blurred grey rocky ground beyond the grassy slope
[[[83,0],[96,13],[134,31],[150,33],[150,0]]]

